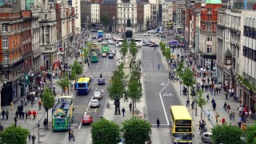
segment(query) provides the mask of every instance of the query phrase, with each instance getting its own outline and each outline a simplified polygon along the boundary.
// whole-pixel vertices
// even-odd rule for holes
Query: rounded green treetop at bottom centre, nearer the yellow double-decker
[[[122,122],[123,138],[126,144],[144,144],[149,139],[150,123],[138,117]]]

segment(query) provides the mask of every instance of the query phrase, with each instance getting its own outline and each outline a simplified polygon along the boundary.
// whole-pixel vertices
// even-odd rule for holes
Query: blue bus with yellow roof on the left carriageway
[[[89,94],[90,91],[90,78],[79,78],[76,84],[76,90],[78,95]]]

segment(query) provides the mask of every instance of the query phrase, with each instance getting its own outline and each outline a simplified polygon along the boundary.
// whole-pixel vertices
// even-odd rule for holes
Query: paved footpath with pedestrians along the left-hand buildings
[[[70,60],[68,61],[68,64],[72,64],[74,62],[74,58],[70,58]],[[81,60],[81,58],[78,58],[78,60]],[[86,72],[86,70],[88,69],[87,65],[86,64],[83,64],[83,73]],[[57,81],[58,81],[59,78],[55,78],[53,80],[53,85],[56,86],[56,98],[58,98],[58,96],[60,94],[62,94],[62,89],[60,88],[60,86],[58,86],[57,84]],[[46,86],[50,85],[50,81],[46,80]],[[70,93],[71,91],[74,90],[74,89],[70,89]],[[9,111],[9,118],[8,120],[6,120],[6,118],[4,120],[0,120],[0,122],[2,123],[2,125],[4,127],[8,127],[8,126],[11,126],[14,124],[14,117],[15,117],[15,112],[18,108],[18,106],[21,105],[21,99],[22,98],[19,98],[15,103],[14,103],[14,109],[11,110],[11,107],[10,106],[2,106],[2,110],[8,110]],[[42,110],[38,110],[38,102],[39,102],[40,98],[36,98],[34,100],[34,104],[33,106],[31,106],[31,102],[29,102],[26,106],[23,107],[23,110],[30,110],[31,112],[33,110],[35,110],[37,112],[37,115],[36,115],[36,118],[33,119],[33,115],[31,116],[31,119],[28,118],[26,119],[26,117],[24,119],[19,119],[18,118],[18,121],[17,121],[17,126],[22,126],[22,128],[26,128],[28,130],[30,130],[30,133],[31,134],[34,134],[37,138],[37,142],[38,142],[38,122],[40,123],[40,132],[39,132],[39,135],[40,135],[40,142],[44,142],[50,135],[51,133],[51,128],[50,130],[43,130],[43,120],[44,118],[46,118],[46,110],[42,107]],[[49,115],[48,115],[48,118],[49,118],[49,127],[52,126],[51,125],[51,109],[49,110]],[[27,142],[29,143],[29,140],[27,139]]]

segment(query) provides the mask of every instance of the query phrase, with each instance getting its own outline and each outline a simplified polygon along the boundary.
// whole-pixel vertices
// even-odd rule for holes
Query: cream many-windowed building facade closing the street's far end
[[[118,0],[117,2],[117,29],[119,32],[126,31],[127,20],[133,31],[137,31],[137,2],[136,0]]]

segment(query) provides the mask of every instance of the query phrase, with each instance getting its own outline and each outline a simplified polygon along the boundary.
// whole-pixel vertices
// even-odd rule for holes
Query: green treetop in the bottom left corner
[[[21,126],[9,126],[0,134],[2,143],[8,144],[26,144],[26,138],[30,131]]]

